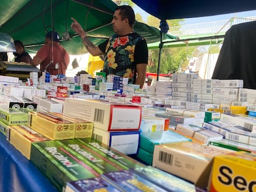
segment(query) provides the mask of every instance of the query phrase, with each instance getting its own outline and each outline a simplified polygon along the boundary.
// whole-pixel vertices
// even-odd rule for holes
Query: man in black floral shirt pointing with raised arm
[[[92,56],[106,54],[103,72],[129,78],[129,83],[143,87],[145,82],[148,47],[145,39],[134,31],[135,14],[130,6],[119,6],[114,12],[112,25],[114,35],[95,46],[74,18],[71,28],[78,33]]]

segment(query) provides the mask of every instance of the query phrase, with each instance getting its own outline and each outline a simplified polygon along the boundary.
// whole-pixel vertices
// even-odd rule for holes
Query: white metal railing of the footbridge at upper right
[[[232,26],[239,23],[251,22],[256,20],[256,16],[253,17],[232,17],[229,20],[219,20],[215,22],[207,23],[195,23],[190,25],[181,25],[177,27],[170,27],[169,33],[175,36],[186,35],[218,35],[219,33],[226,33],[226,31]]]

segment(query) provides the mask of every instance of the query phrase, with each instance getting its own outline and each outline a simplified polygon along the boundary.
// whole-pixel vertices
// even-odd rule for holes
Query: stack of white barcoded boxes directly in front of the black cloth
[[[244,85],[243,80],[213,80],[213,103],[221,101],[238,101],[239,88]]]

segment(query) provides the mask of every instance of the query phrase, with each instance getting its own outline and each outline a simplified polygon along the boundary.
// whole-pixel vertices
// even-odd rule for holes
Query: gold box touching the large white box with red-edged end
[[[62,119],[69,120],[70,122],[75,123],[75,136],[74,138],[92,138],[93,134],[93,122],[89,122],[84,119],[77,119],[75,117],[69,117],[67,115],[62,115],[59,113],[50,113],[61,117]]]

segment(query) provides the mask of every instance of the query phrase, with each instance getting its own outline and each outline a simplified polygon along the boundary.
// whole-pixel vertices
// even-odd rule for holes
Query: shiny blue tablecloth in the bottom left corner
[[[0,133],[0,191],[57,192],[48,178]]]

